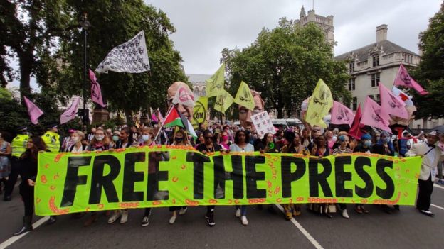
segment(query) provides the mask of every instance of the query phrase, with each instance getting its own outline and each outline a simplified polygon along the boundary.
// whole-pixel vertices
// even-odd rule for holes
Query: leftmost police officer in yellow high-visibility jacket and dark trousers
[[[6,183],[4,201],[11,201],[12,199],[11,194],[14,190],[14,185],[17,182],[18,173],[20,171],[20,162],[18,162],[18,159],[21,154],[25,152],[28,139],[28,128],[26,126],[19,127],[17,129],[17,135],[11,143],[11,173],[9,174],[8,182]]]

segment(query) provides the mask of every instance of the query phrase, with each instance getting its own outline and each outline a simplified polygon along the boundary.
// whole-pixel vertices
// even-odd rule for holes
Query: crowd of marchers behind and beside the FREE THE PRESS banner
[[[373,133],[372,135],[370,135],[370,133],[364,134],[361,138],[356,139],[349,136],[346,131],[339,131],[337,128],[323,129],[318,126],[312,126],[312,128],[305,128],[304,126],[280,126],[275,128],[275,135],[272,133],[266,133],[263,138],[259,138],[255,129],[251,126],[243,128],[236,125],[220,125],[218,123],[212,124],[208,126],[208,128],[203,126],[203,123],[201,123],[196,130],[196,139],[183,128],[174,127],[159,129],[159,127],[144,126],[143,124],[139,127],[128,127],[124,125],[107,128],[104,126],[97,126],[91,128],[88,132],[69,130],[69,135],[65,138],[60,137],[56,124],[53,124],[48,126],[48,131],[41,136],[28,134],[26,127],[19,128],[17,131],[18,135],[12,140],[11,144],[0,137],[0,176],[2,179],[1,182],[6,184],[4,193],[5,201],[11,200],[11,193],[14,189],[17,176],[21,175],[20,194],[25,204],[25,216],[23,217],[23,228],[21,228],[16,235],[32,230],[31,221],[35,201],[33,196],[33,186],[37,176],[38,152],[42,150],[81,153],[85,151],[112,151],[141,145],[179,145],[192,146],[201,153],[213,153],[217,151],[259,151],[260,153],[300,153],[302,155],[325,157],[328,155],[356,152],[406,157],[409,153],[411,156],[421,155],[417,150],[416,152],[412,152],[412,147],[421,143],[429,145],[430,141],[428,138],[438,138],[438,136],[439,143],[436,143],[438,145],[437,148],[444,147],[444,136],[436,131],[433,131],[427,137],[423,133],[414,137],[411,133],[408,133],[408,131],[404,131],[401,137],[392,137],[390,133],[382,131],[381,133]],[[157,133],[159,133],[157,140],[154,140]],[[437,140],[435,140],[435,142]],[[427,157],[427,155],[424,154],[425,153],[423,153],[423,156]],[[152,157],[150,163],[153,164],[149,165],[149,167],[156,167],[156,164],[158,164],[159,161],[164,160],[166,155],[163,153],[150,153],[149,157]],[[9,165],[11,165],[11,167]],[[438,172],[435,172],[436,169]],[[423,170],[421,170],[421,174],[422,173]],[[438,168],[435,167],[435,169],[429,171],[428,174],[430,177],[433,176],[433,179],[435,174],[437,174],[438,184],[443,184],[442,162],[439,162]],[[6,181],[6,179],[8,180]],[[427,200],[425,200],[425,202],[427,202]],[[422,204],[417,203],[417,207],[418,205]],[[265,206],[269,211],[275,211],[273,205]],[[282,206],[285,211],[284,217],[287,220],[301,215],[303,210],[302,204],[283,204]],[[382,204],[379,206],[381,207],[381,210],[387,214],[399,211],[399,206],[396,205],[388,206]],[[430,204],[428,204],[428,206],[430,206]],[[332,203],[307,204],[307,210],[322,214],[329,218],[332,218],[334,213],[339,213],[343,218],[349,218],[348,211],[350,209],[353,209],[357,215],[369,213],[364,204],[354,204],[353,206]],[[424,209],[427,209],[424,211],[428,211],[427,204],[425,204]],[[174,206],[169,207],[169,210],[171,211],[169,223],[172,224],[176,222],[176,219],[180,215],[186,214],[188,208],[187,206]],[[208,226],[214,226],[216,224],[214,220],[214,210],[215,206],[207,206],[206,221]],[[115,223],[116,221],[126,223],[128,221],[128,209],[122,208],[117,211],[104,212],[108,217],[108,223]],[[240,222],[243,225],[248,224],[247,206],[236,206],[234,212],[236,217],[240,218]],[[83,212],[70,215],[75,218],[82,218],[85,216],[84,225],[90,226],[100,217],[98,214],[99,212],[97,211],[91,211],[88,212],[88,214]],[[151,214],[151,208],[144,209],[142,226],[148,226]],[[51,216],[48,223],[51,224],[56,221],[57,217]]]

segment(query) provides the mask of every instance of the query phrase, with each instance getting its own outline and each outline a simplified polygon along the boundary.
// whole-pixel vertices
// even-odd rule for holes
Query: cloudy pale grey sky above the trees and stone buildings
[[[177,29],[171,35],[187,74],[213,74],[223,48],[245,48],[280,17],[299,18],[312,0],[144,0],[162,9]],[[335,55],[376,42],[376,26],[388,25],[388,40],[418,53],[418,33],[442,0],[315,0],[320,16],[334,16]]]

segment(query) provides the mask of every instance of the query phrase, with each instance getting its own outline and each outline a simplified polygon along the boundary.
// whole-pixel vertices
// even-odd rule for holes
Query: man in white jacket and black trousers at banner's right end
[[[426,216],[433,217],[430,211],[430,202],[433,192],[433,183],[436,176],[436,165],[444,159],[443,150],[438,145],[439,131],[431,131],[427,135],[425,143],[413,144],[406,153],[406,157],[421,156],[421,172],[418,179],[418,199],[416,199],[416,209]]]

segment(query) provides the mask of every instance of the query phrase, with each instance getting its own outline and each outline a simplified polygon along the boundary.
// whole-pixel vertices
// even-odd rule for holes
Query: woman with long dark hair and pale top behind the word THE
[[[248,133],[245,131],[238,131],[234,135],[234,143],[230,145],[230,151],[231,152],[242,152],[242,153],[248,153],[248,152],[254,152],[254,147],[248,141],[250,138],[248,137]],[[249,179],[250,177],[247,177],[247,185],[250,181],[253,179]],[[240,222],[243,226],[248,225],[248,219],[247,219],[247,206],[236,206],[236,213],[235,216],[240,218]]]

